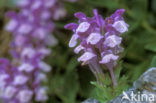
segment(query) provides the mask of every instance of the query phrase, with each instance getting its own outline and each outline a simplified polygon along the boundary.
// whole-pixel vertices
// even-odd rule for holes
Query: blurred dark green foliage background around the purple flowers
[[[8,19],[5,13],[18,10],[15,0],[0,0],[0,57],[8,57],[9,43],[12,36],[4,30]],[[47,103],[80,103],[96,97],[95,87],[90,81],[95,81],[87,66],[77,62],[78,55],[68,47],[72,32],[64,30],[64,25],[77,22],[73,14],[78,11],[92,16],[92,10],[98,9],[106,18],[118,8],[126,9],[125,21],[130,25],[129,32],[123,35],[125,51],[122,58],[120,76],[126,77],[130,87],[144,71],[156,66],[156,0],[78,0],[75,3],[60,0],[67,11],[66,17],[54,21],[56,28],[53,35],[58,39],[57,46],[52,48],[52,54],[46,59],[53,70],[48,74],[49,100]]]

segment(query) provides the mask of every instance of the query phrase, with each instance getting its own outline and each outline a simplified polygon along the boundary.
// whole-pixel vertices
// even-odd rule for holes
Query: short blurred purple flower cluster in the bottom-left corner
[[[18,71],[9,60],[0,59],[0,97],[3,103],[27,103],[33,92],[25,85],[29,77]]]

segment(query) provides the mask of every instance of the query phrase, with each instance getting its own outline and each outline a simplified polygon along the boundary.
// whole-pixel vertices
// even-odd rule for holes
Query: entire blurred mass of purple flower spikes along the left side
[[[51,35],[51,20],[65,15],[56,0],[18,0],[19,13],[6,15],[11,18],[6,30],[12,32],[12,62],[0,59],[0,97],[3,103],[32,103],[48,99],[46,74],[51,67],[43,60],[51,53],[48,46],[57,40]]]

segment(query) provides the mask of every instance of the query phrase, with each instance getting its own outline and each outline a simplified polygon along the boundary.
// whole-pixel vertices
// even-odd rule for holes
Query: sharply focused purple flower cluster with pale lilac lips
[[[119,9],[105,20],[97,10],[93,11],[93,17],[87,17],[84,13],[78,12],[75,13],[75,17],[79,19],[78,24],[70,23],[65,26],[66,29],[74,32],[69,47],[77,46],[74,52],[83,53],[78,61],[82,61],[83,65],[89,64],[96,77],[97,74],[102,73],[101,68],[104,65],[109,69],[114,85],[117,83],[113,68],[119,53],[123,51],[120,46],[122,42],[120,35],[128,31],[128,24],[122,17],[124,11]],[[80,42],[79,45],[77,45],[78,42]]]

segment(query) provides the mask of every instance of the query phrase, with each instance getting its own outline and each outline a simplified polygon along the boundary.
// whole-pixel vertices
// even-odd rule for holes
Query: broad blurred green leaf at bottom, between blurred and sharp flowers
[[[76,72],[71,71],[65,75],[56,75],[52,78],[51,91],[53,91],[63,103],[75,103],[79,89]]]

